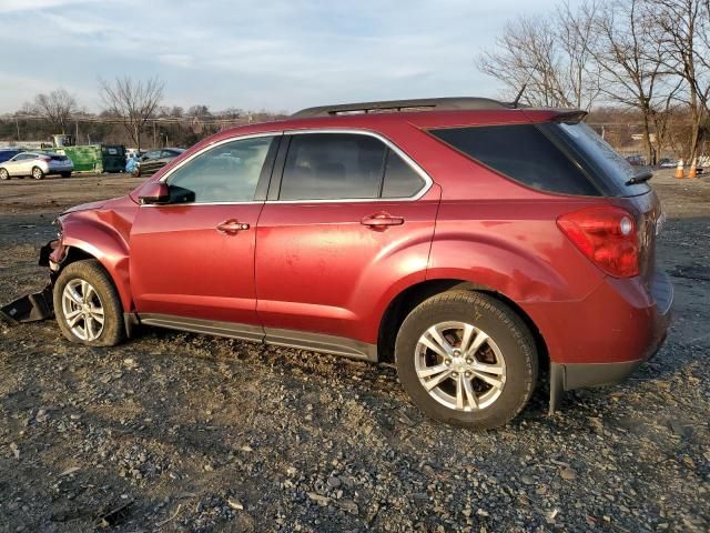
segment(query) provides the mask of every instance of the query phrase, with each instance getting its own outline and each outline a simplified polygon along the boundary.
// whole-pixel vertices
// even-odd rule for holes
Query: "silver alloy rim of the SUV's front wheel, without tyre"
[[[103,304],[97,290],[84,280],[71,280],[62,292],[64,321],[82,341],[94,341],[103,331]]]

